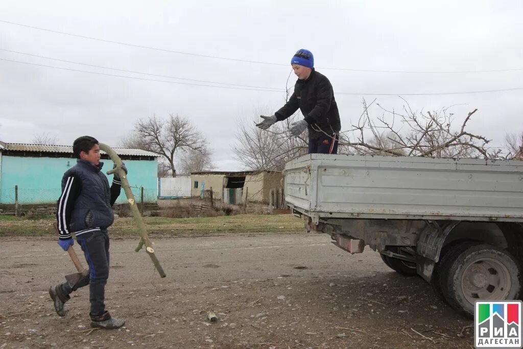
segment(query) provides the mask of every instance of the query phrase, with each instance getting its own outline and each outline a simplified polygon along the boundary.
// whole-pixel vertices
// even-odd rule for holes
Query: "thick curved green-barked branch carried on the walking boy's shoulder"
[[[153,261],[153,264],[160,274],[161,277],[165,277],[165,272],[163,271],[162,266],[160,265],[160,261],[158,261],[158,258],[156,258],[156,255],[154,254],[154,249],[151,244],[151,241],[149,240],[149,236],[147,235],[147,230],[145,229],[145,224],[143,223],[142,216],[140,215],[140,211],[138,210],[138,206],[136,205],[136,202],[134,200],[134,195],[131,191],[131,187],[129,186],[129,181],[127,180],[127,175],[122,169],[122,160],[120,159],[120,156],[109,147],[109,145],[104,143],[99,143],[100,149],[105,151],[111,160],[116,164],[116,168],[113,168],[110,171],[107,171],[107,174],[113,174],[118,172],[118,175],[120,176],[121,182],[122,182],[122,188],[123,191],[126,193],[127,196],[127,202],[129,202],[129,206],[131,207],[131,212],[134,217],[134,220],[137,223],[138,226],[138,232],[141,235],[140,243],[138,244],[138,247],[134,250],[136,252],[140,251],[142,249],[142,246],[145,245],[145,251],[147,254],[149,254],[149,257],[151,257],[151,260]]]

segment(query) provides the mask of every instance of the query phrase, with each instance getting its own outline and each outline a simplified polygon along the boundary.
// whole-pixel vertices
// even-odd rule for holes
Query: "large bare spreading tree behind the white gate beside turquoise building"
[[[173,177],[176,176],[175,155],[189,150],[201,152],[208,146],[207,139],[189,119],[172,114],[167,119],[153,115],[138,120],[133,133],[121,143],[160,155]]]

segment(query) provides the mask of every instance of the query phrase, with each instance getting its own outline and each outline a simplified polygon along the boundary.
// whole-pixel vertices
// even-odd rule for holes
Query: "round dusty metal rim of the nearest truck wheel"
[[[465,299],[474,304],[480,299],[507,299],[512,279],[507,267],[492,258],[482,258],[471,263],[461,278]]]

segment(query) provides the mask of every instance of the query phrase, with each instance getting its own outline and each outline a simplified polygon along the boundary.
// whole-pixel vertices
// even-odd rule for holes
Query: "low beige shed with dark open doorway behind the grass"
[[[201,196],[212,187],[213,197],[238,205],[247,201],[269,202],[271,189],[282,188],[283,176],[277,171],[192,172],[191,196]]]

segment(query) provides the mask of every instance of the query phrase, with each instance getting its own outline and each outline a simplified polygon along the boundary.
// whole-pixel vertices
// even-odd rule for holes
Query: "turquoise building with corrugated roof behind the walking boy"
[[[126,163],[137,201],[143,187],[144,202],[156,202],[158,155],[140,149],[113,149]],[[112,161],[106,153],[101,154],[105,173],[111,170]],[[61,194],[62,176],[75,164],[72,146],[0,142],[0,205],[15,203],[15,186],[20,205],[55,204]],[[108,179],[112,182],[112,175]],[[117,204],[124,202],[127,199],[122,190]]]

